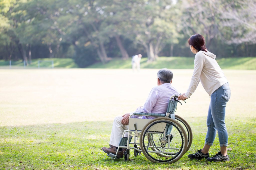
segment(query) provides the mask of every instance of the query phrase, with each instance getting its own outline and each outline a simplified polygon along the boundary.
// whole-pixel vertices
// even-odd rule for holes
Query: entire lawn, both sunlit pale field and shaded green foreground
[[[186,92],[193,70],[171,70],[172,85]],[[256,70],[223,70],[231,87],[226,108],[229,163],[197,163],[187,154],[172,165],[151,163],[143,154],[131,154],[130,162],[106,157],[100,148],[108,146],[112,120],[144,104],[156,86],[157,71],[0,69],[0,169],[256,168]],[[176,114],[194,132],[189,153],[203,145],[209,101],[199,83],[187,103],[178,104]],[[215,145],[210,154],[218,151],[217,136]]]

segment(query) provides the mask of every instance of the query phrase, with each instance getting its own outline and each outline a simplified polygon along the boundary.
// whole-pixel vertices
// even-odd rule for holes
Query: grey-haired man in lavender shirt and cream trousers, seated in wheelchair
[[[172,79],[172,71],[166,68],[159,70],[157,72],[157,86],[152,88],[145,104],[142,107],[138,107],[134,112],[166,113],[170,96],[179,94],[178,91],[171,85]],[[116,154],[123,132],[124,130],[128,130],[129,116],[132,113],[133,112],[115,117],[109,141],[110,148],[101,148],[105,153]],[[155,117],[134,115],[133,118],[154,119]],[[117,157],[123,157],[122,149],[118,151]]]

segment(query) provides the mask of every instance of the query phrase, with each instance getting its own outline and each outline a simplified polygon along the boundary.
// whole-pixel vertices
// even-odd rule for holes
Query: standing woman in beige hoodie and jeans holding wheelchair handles
[[[194,72],[186,93],[178,96],[179,100],[188,99],[195,92],[199,81],[210,95],[211,101],[207,116],[207,133],[205,145],[195,154],[189,154],[190,159],[207,158],[208,161],[229,161],[227,154],[228,132],[225,124],[225,108],[230,99],[230,88],[226,77],[216,62],[216,55],[207,51],[205,39],[200,34],[192,35],[188,39],[190,50],[195,55]],[[209,149],[213,145],[216,130],[218,130],[220,152],[209,157]]]

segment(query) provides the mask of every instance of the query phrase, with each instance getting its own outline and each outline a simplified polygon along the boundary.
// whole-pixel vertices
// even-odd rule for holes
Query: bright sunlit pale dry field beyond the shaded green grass
[[[0,126],[113,120],[142,106],[158,69],[0,69]],[[186,92],[193,70],[173,69]],[[231,87],[226,118],[256,116],[256,70],[223,70]],[[209,95],[199,83],[176,114],[207,116]]]

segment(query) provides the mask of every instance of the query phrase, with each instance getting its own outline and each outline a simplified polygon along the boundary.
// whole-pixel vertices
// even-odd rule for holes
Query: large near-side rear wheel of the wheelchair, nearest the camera
[[[173,163],[186,151],[186,131],[171,118],[158,117],[151,120],[143,127],[141,134],[141,150],[151,162]]]

